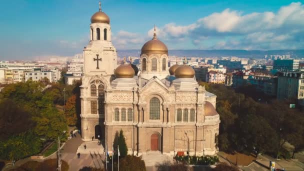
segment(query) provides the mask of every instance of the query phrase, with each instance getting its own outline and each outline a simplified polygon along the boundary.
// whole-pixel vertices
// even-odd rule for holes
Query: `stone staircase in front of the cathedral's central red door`
[[[161,154],[160,152],[147,152],[142,154],[142,160],[146,166],[154,166],[154,165],[168,165],[168,163],[173,163],[173,157]]]

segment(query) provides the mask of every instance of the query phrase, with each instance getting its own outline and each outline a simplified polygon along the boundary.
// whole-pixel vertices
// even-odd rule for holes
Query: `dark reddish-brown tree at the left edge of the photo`
[[[0,99],[0,139],[31,129],[34,122],[29,112],[8,98]]]

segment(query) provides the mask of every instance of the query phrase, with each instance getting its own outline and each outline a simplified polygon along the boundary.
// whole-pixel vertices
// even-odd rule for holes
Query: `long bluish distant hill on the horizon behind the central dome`
[[[117,50],[118,56],[139,56],[140,49]],[[266,54],[290,54],[291,57],[304,57],[304,49],[300,50],[169,50],[169,55],[196,57],[254,57],[263,58]]]

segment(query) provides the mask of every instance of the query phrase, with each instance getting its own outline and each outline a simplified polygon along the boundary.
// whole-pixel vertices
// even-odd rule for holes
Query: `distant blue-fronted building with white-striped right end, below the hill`
[[[277,71],[295,71],[298,69],[298,59],[276,59],[273,60],[273,69]]]

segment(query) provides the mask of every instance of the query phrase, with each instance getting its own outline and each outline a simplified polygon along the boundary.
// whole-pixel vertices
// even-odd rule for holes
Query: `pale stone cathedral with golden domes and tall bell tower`
[[[123,130],[128,153],[213,155],[219,115],[216,96],[195,80],[186,64],[168,67],[167,46],[154,34],[141,47],[140,67],[117,65],[110,18],[91,16],[90,41],[83,49],[81,136],[101,139],[112,152],[115,133]]]

